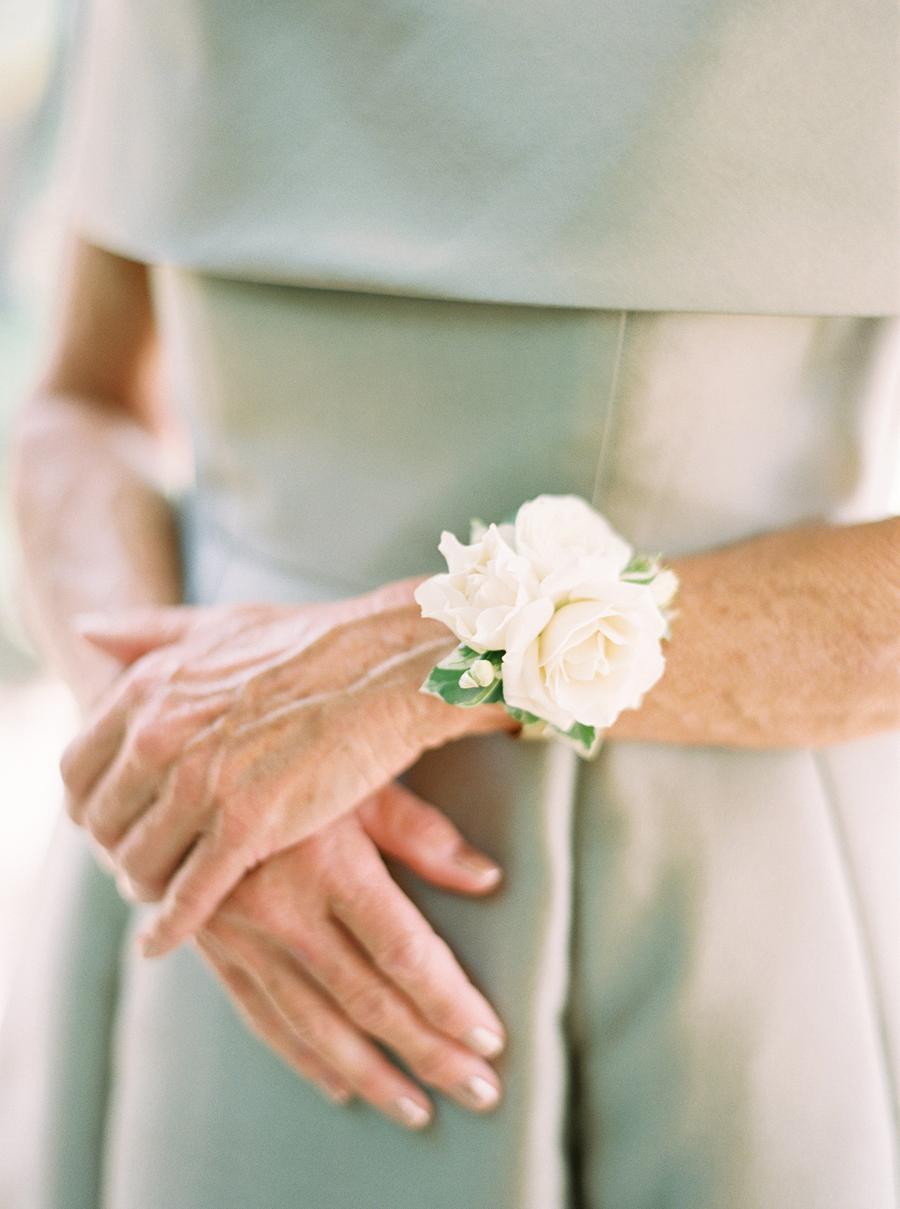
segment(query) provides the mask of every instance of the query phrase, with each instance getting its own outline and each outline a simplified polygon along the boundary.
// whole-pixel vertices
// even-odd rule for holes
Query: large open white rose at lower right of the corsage
[[[544,626],[536,623],[523,615],[509,627],[503,696],[560,730],[612,725],[663,673],[665,618],[646,584],[611,584],[601,597],[571,601]]]

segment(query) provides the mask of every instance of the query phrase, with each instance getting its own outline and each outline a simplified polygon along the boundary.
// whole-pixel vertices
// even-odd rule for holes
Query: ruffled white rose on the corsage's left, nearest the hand
[[[420,584],[415,598],[422,617],[449,626],[473,650],[503,650],[507,630],[527,613],[538,629],[553,614],[553,603],[538,598],[538,583],[527,559],[507,540],[508,526],[489,525],[471,545],[444,531],[438,549],[448,573]]]

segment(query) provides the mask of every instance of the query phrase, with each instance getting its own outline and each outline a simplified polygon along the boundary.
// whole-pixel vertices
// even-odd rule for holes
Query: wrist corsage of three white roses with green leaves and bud
[[[594,756],[601,731],[663,675],[675,572],[635,554],[578,496],[537,496],[501,525],[475,520],[468,545],[445,530],[438,549],[448,571],[415,598],[460,646],[422,692],[502,702],[526,737]]]

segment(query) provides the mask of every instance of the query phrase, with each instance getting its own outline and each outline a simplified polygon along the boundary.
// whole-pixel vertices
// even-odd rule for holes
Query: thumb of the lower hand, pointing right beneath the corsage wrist
[[[443,811],[398,781],[391,781],[358,808],[370,838],[426,881],[481,895],[503,873],[496,861],[468,844]]]

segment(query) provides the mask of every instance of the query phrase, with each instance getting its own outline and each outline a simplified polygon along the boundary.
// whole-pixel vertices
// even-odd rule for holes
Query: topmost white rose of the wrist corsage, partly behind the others
[[[515,514],[515,549],[555,601],[618,579],[634,553],[579,496],[536,496],[523,504]]]

